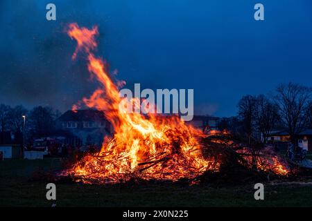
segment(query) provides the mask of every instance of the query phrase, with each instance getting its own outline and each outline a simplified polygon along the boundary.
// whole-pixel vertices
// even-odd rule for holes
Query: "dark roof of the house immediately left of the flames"
[[[97,110],[78,110],[78,111],[66,111],[59,118],[60,122],[88,122],[95,120],[105,120],[103,111]]]

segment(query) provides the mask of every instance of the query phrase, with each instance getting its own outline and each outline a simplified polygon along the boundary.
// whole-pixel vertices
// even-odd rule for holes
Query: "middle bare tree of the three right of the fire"
[[[266,96],[257,96],[254,120],[258,131],[262,134],[264,144],[267,142],[268,135],[272,133],[275,125],[279,122],[278,111],[278,106]]]

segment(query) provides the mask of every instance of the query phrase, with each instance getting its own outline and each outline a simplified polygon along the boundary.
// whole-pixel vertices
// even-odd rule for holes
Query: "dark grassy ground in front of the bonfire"
[[[51,206],[46,183],[34,171],[60,169],[60,159],[0,162],[0,206]],[[254,200],[251,184],[57,184],[57,206],[312,206],[312,185],[265,185],[265,200]]]

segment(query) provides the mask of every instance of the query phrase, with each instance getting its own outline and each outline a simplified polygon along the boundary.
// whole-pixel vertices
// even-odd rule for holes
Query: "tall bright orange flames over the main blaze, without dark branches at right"
[[[178,180],[192,178],[218,164],[204,160],[196,137],[202,132],[187,126],[177,116],[147,116],[125,113],[125,108],[137,105],[119,97],[119,90],[107,73],[102,59],[96,57],[98,28],[80,28],[71,23],[67,33],[78,43],[73,59],[79,51],[87,54],[88,70],[103,85],[83,102],[89,108],[103,111],[114,126],[114,137],[105,139],[99,153],[87,155],[69,173],[83,177],[83,182],[125,182],[131,177],[144,180]]]

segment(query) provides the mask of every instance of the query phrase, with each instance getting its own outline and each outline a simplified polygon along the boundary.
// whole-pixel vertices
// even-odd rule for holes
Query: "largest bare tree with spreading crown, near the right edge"
[[[299,84],[281,84],[276,89],[275,102],[291,142],[295,144],[295,135],[300,133],[308,122],[307,110],[311,101],[311,88]]]

